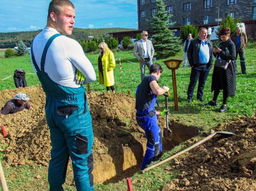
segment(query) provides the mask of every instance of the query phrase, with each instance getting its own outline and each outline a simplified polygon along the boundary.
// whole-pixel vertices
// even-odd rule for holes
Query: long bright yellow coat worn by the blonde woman
[[[106,87],[114,85],[114,72],[115,68],[115,57],[111,50],[106,49],[104,55],[101,58],[102,60],[102,68],[103,68],[103,76],[102,73],[98,70],[99,75],[99,84],[104,84]],[[110,71],[108,71],[110,69]]]

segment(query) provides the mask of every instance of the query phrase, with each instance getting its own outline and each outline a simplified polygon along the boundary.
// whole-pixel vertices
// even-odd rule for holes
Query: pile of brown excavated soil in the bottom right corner
[[[256,118],[219,125],[216,131],[230,131],[236,135],[215,135],[189,155],[175,159],[174,165],[166,170],[181,173],[165,184],[163,191],[256,190]],[[197,141],[192,140],[187,147]]]

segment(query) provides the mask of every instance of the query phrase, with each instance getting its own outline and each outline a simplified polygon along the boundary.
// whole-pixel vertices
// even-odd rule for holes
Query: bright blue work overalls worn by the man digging
[[[137,87],[136,94],[139,91],[140,85]],[[138,125],[145,131],[147,137],[147,150],[143,158],[141,165],[141,170],[145,169],[148,164],[152,161],[158,160],[162,152],[162,132],[158,126],[155,104],[156,104],[156,95],[153,94],[153,99],[145,111],[137,110],[136,121]]]

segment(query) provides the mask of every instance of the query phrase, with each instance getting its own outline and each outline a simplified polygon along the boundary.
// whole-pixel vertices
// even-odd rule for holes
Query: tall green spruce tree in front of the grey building
[[[180,37],[174,36],[174,30],[169,30],[170,18],[173,16],[165,11],[163,0],[156,0],[157,12],[153,16],[153,20],[147,20],[153,27],[152,43],[157,58],[166,58],[174,56],[182,49]]]

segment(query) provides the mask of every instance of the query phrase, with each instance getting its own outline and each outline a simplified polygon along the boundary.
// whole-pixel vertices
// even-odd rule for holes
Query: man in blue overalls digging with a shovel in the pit
[[[145,131],[147,137],[147,150],[143,158],[141,170],[163,155],[162,132],[158,126],[157,116],[163,116],[165,110],[161,113],[155,110],[156,96],[163,95],[166,91],[169,91],[169,87],[164,86],[161,88],[158,85],[158,79],[162,71],[163,69],[160,64],[152,64],[149,69],[149,75],[143,78],[136,90],[136,121]]]

